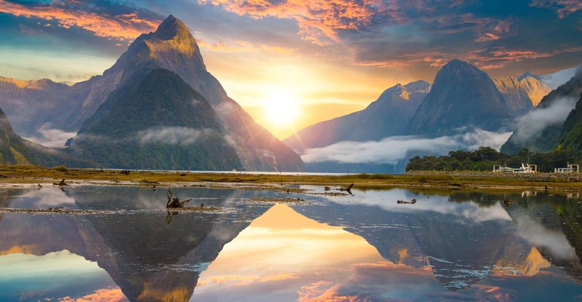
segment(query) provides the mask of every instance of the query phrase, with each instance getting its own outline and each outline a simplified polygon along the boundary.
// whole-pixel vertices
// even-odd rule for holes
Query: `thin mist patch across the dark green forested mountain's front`
[[[154,127],[138,132],[140,144],[193,144],[207,136],[214,134],[214,130],[188,127]]]

